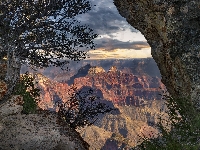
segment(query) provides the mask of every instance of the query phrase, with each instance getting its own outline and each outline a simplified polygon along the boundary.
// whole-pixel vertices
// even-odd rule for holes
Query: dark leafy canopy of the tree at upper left
[[[0,1],[0,55],[10,52],[8,59],[37,68],[64,68],[69,60],[85,59],[80,48],[95,49],[98,35],[75,17],[91,8],[87,0]]]

